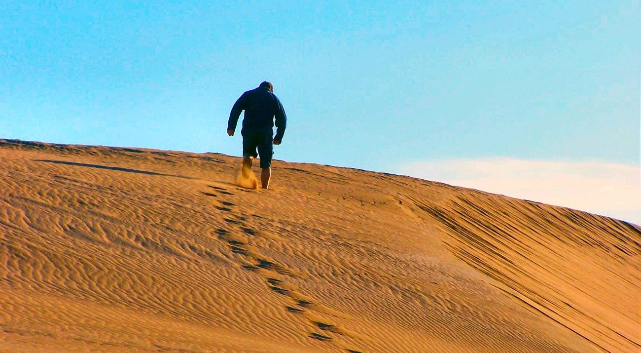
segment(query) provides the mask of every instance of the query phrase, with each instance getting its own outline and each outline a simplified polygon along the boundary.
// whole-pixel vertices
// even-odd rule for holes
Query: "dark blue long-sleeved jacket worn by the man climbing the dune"
[[[245,110],[245,117],[242,119],[241,135],[253,132],[271,132],[276,117],[276,136],[274,140],[282,141],[287,126],[287,115],[285,108],[278,97],[267,87],[258,87],[243,93],[234,103],[229,113],[227,130],[236,130],[240,112]]]

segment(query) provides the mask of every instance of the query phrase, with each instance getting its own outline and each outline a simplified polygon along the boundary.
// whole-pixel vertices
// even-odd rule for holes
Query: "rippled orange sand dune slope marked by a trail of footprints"
[[[3,352],[639,352],[641,228],[404,176],[0,140]]]

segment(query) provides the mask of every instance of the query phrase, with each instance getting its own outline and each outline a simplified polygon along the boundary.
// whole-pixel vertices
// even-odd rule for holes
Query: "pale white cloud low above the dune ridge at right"
[[[397,171],[641,224],[641,169],[637,166],[491,158],[412,162]]]

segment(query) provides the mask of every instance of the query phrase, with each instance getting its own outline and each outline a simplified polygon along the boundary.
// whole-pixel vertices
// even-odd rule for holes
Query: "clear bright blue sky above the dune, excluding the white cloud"
[[[240,155],[229,109],[270,80],[277,159],[431,178],[420,163],[597,162],[638,184],[640,18],[639,1],[5,0],[0,138]]]

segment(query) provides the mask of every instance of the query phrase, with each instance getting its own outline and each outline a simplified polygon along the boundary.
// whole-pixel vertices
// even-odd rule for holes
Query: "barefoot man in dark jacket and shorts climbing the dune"
[[[243,173],[251,173],[251,161],[260,155],[260,182],[263,189],[269,187],[272,175],[271,163],[274,154],[274,144],[281,144],[287,116],[285,109],[274,94],[271,82],[262,82],[258,88],[243,93],[234,103],[229,113],[227,133],[234,135],[240,112],[245,110],[242,120],[242,157]],[[276,118],[276,136],[274,136],[274,118]],[[258,149],[258,153],[256,153]]]

